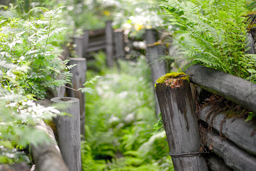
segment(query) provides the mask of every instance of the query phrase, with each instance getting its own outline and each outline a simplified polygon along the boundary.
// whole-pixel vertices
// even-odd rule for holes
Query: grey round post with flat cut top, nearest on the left
[[[54,105],[59,106],[62,112],[69,115],[53,118],[56,126],[56,138],[61,155],[70,171],[81,171],[81,138],[79,99],[72,97],[55,97],[51,99]]]

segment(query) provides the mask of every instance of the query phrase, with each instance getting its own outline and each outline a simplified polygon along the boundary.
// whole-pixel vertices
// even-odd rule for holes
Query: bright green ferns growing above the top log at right
[[[193,0],[195,1],[195,0]],[[256,82],[250,69],[256,55],[248,55],[245,0],[168,0],[162,9],[170,24],[180,27],[183,54],[207,67]],[[249,70],[248,70],[249,69]]]

